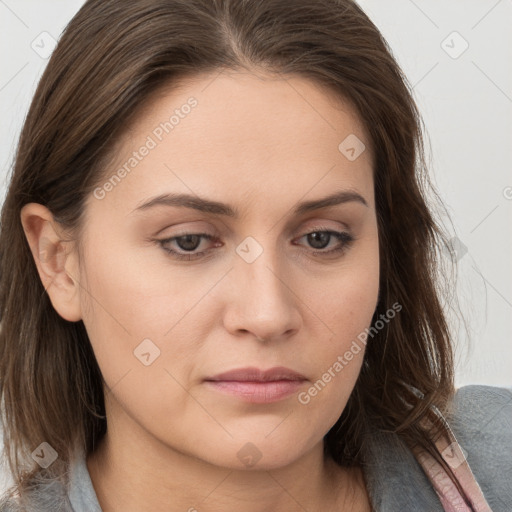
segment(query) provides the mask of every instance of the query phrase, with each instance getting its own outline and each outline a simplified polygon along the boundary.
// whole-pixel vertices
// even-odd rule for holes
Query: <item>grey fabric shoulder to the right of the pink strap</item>
[[[512,510],[512,390],[461,387],[446,419],[491,508]]]

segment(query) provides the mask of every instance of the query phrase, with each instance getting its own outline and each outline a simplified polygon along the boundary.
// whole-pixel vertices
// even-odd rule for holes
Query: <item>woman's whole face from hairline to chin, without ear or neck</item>
[[[238,468],[322,441],[378,298],[361,143],[352,109],[299,77],[201,75],[148,104],[88,199],[77,277],[109,426]]]

